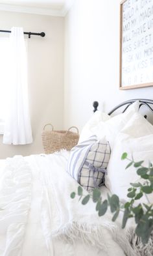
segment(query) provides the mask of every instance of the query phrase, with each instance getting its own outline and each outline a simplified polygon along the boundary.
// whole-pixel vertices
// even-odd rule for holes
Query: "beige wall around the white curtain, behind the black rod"
[[[0,135],[0,158],[41,153],[43,125],[52,122],[54,128],[63,128],[64,18],[0,11],[0,24],[5,30],[15,26],[23,27],[24,31],[46,33],[44,38],[31,36],[28,39],[29,102],[34,143],[3,145]]]

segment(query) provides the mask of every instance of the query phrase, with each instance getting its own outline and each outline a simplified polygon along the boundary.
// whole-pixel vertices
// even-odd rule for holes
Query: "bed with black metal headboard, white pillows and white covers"
[[[111,154],[108,175],[100,186],[102,199],[117,193],[126,200],[129,177],[135,177],[133,170],[128,175],[121,172],[123,150],[134,150],[135,158],[153,162],[153,126],[139,113],[142,106],[152,111],[152,104],[153,100],[135,99],[123,102],[108,115],[95,111],[82,129],[79,143],[95,134],[98,140],[103,136],[109,141]],[[123,113],[110,117],[123,106]],[[132,221],[121,229],[121,218],[112,222],[109,211],[97,215],[92,201],[83,206],[78,199],[71,199],[78,182],[67,172],[70,158],[71,152],[61,150],[0,160],[0,255],[153,255],[152,240],[145,248],[135,242]],[[84,195],[88,193],[84,189]]]

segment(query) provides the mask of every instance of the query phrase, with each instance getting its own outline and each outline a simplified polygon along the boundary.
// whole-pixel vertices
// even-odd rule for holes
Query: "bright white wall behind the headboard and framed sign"
[[[153,87],[119,90],[120,0],[77,0],[65,17],[65,127],[82,128],[92,103],[109,111],[131,98],[152,98]]]

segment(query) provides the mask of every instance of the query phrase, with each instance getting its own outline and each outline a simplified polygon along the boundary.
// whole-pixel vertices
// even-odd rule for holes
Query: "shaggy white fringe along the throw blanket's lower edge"
[[[75,244],[76,240],[81,240],[88,245],[107,251],[104,228],[110,232],[113,240],[121,246],[127,256],[137,256],[123,230],[117,228],[113,223],[97,225],[73,221],[72,223],[67,223],[62,229],[59,229],[52,235],[54,238],[61,239],[67,243]]]

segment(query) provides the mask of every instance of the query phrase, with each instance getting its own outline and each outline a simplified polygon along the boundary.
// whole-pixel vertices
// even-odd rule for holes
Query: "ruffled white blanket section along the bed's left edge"
[[[18,256],[31,203],[31,171],[21,156],[6,160],[0,190],[0,255]]]

